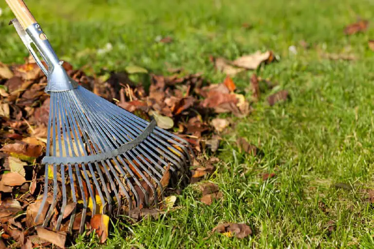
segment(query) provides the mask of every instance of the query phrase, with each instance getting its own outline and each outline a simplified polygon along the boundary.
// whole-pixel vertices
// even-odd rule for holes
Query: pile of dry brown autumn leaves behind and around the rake
[[[271,52],[266,56],[258,55],[262,57],[256,63],[250,62],[246,56],[250,67],[245,67],[244,59],[237,60],[235,67],[243,71],[273,60]],[[217,67],[217,59],[213,62]],[[206,157],[200,155],[215,153],[222,133],[232,124],[229,119],[217,118],[216,115],[231,113],[238,118],[248,115],[251,103],[260,98],[259,84],[262,81],[253,74],[249,81],[252,98],[248,101],[230,76],[222,83],[211,84],[200,74],[186,74],[180,70],[168,76],[147,73],[150,84],[146,88],[146,84],[133,82],[129,72],[110,72],[105,77],[95,77],[73,69],[66,62],[63,67],[86,89],[143,119],[155,119],[161,128],[190,142],[197,155],[191,165],[192,182],[214,171],[218,159],[203,159]],[[222,65],[218,70],[222,70]],[[44,169],[40,161],[45,155],[47,142],[49,95],[44,92],[46,84],[45,75],[31,59],[22,65],[0,63],[0,248],[11,241],[24,248],[65,245],[66,232],[36,228],[42,220],[35,221],[44,188]],[[268,102],[274,105],[287,97],[287,91],[280,91],[270,96]],[[244,150],[256,153],[257,148],[246,141],[242,143]],[[203,202],[207,204],[222,196],[218,187],[210,187],[203,190],[206,195]],[[68,217],[73,208],[67,208],[64,217]],[[132,216],[139,218],[144,213],[152,214],[146,208],[137,210],[138,213]],[[77,223],[73,226],[74,231],[79,222],[74,222]],[[98,214],[87,221],[86,228],[96,231],[104,242],[108,236],[108,224],[109,217]]]

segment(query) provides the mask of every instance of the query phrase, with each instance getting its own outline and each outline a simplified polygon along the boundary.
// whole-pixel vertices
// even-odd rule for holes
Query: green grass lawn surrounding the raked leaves
[[[235,132],[220,149],[223,162],[210,178],[222,189],[223,200],[205,206],[190,185],[178,196],[180,209],[156,221],[117,224],[104,247],[374,248],[374,209],[365,201],[365,191],[374,188],[374,52],[367,46],[374,28],[354,36],[343,33],[357,17],[373,19],[373,1],[27,2],[57,54],[76,67],[88,65],[91,73],[128,65],[167,73],[167,62],[222,82],[224,75],[214,70],[209,55],[234,59],[272,50],[280,56],[259,75],[289,90],[292,100],[269,107],[267,92],[251,115],[235,119]],[[0,7],[0,61],[22,62],[27,53],[7,26],[12,15],[4,3]],[[244,22],[253,28],[243,29]],[[157,36],[171,36],[174,42],[157,43]],[[304,50],[300,40],[310,49]],[[97,54],[108,42],[112,51]],[[289,52],[291,45],[297,54]],[[347,51],[357,60],[322,56]],[[234,77],[240,89],[250,75]],[[259,145],[264,156],[241,154],[234,145],[240,136]],[[268,172],[277,175],[263,181]],[[337,182],[353,189],[335,188]],[[220,222],[245,222],[254,233],[243,240],[209,237]],[[97,240],[78,239],[76,246],[97,246]]]

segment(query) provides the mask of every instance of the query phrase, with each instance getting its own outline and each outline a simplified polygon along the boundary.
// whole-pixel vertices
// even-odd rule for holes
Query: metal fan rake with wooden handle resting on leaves
[[[12,20],[17,33],[47,76],[50,94],[45,184],[35,221],[72,231],[81,215],[82,233],[90,212],[116,216],[151,203],[157,207],[164,198],[163,177],[185,179],[193,155],[189,144],[154,120],[147,122],[78,85],[25,3],[6,2],[17,18]],[[68,201],[74,207],[70,220],[64,215]]]

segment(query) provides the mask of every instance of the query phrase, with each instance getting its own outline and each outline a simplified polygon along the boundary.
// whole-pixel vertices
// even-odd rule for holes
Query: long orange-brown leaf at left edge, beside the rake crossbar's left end
[[[31,158],[38,158],[43,153],[43,147],[40,145],[30,144],[27,142],[16,142],[4,145],[0,151],[6,153],[14,153],[17,155],[24,155]],[[14,155],[14,157],[17,157]],[[22,159],[22,158],[21,158]]]

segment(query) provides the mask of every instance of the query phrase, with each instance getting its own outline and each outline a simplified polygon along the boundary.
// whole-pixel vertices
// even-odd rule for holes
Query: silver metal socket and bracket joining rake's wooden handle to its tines
[[[26,31],[24,31],[17,19],[13,19],[12,23],[14,24],[21,40],[33,55],[35,62],[47,76],[48,84],[45,91],[67,91],[77,88],[78,84],[75,82],[75,80],[69,77],[65,69],[62,67],[63,62],[58,59],[47,37],[40,28],[40,25],[38,23],[34,23],[27,27]],[[47,69],[44,67],[43,63],[37,56],[36,51],[31,46],[32,43],[35,45],[37,52],[47,64]]]

